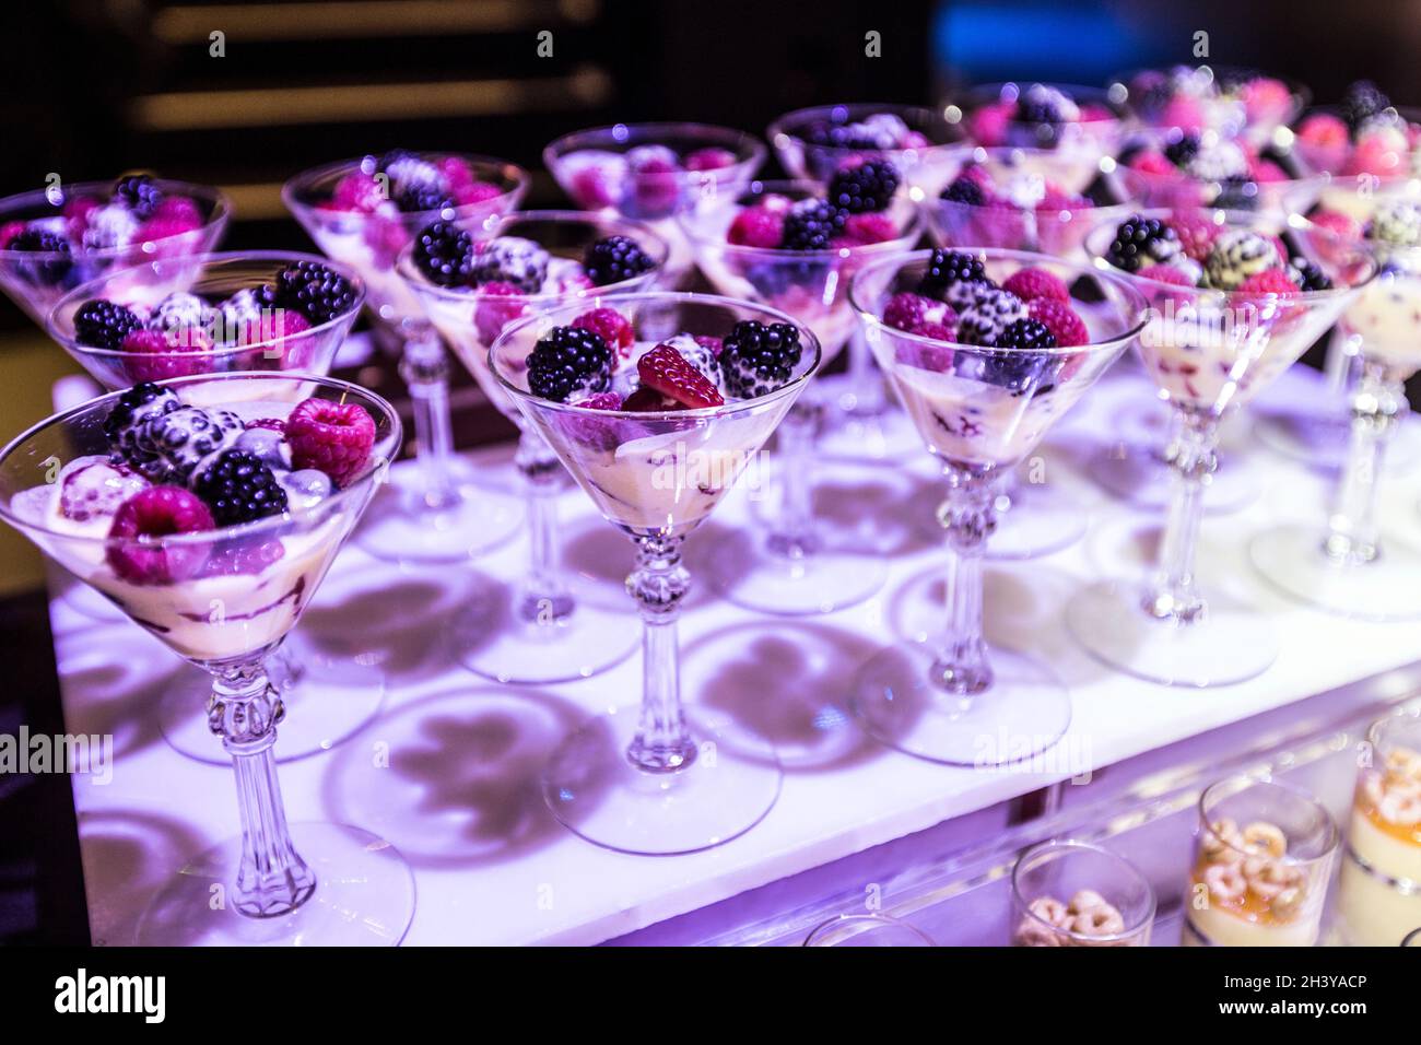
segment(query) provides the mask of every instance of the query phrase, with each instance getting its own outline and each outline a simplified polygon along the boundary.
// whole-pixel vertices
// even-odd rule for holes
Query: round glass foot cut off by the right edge
[[[1343,564],[1312,526],[1279,526],[1249,542],[1263,579],[1290,599],[1360,620],[1421,618],[1421,553],[1387,542],[1370,563]]]

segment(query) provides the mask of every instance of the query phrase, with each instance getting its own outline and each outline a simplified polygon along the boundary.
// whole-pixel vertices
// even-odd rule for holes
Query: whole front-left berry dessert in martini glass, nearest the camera
[[[280,463],[252,432],[277,435]],[[266,674],[398,448],[399,417],[357,385],[234,373],[142,382],[0,451],[0,519],[213,678],[242,835],[175,873],[138,943],[395,944],[408,928],[414,876],[394,847],[287,825],[271,756],[286,709]]]

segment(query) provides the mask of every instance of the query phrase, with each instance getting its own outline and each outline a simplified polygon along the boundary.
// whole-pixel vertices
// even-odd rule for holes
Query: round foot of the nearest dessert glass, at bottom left
[[[290,914],[250,918],[219,903],[242,862],[242,839],[227,839],[190,860],[153,897],[136,943],[394,947],[404,940],[415,916],[415,876],[394,846],[341,823],[293,823],[291,840],[315,873],[315,891]]]

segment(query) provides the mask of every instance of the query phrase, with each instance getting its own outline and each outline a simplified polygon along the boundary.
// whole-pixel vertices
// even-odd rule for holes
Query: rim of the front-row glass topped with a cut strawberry
[[[647,411],[627,411],[627,409],[595,409],[593,407],[576,407],[570,402],[554,402],[553,400],[544,400],[534,395],[526,388],[519,388],[512,381],[503,375],[503,370],[497,364],[496,354],[500,347],[507,344],[527,327],[536,323],[543,323],[558,313],[571,311],[574,303],[567,303],[543,313],[534,313],[533,316],[523,316],[509,326],[506,326],[499,336],[495,338],[493,344],[489,345],[489,371],[497,378],[499,385],[509,392],[514,401],[527,401],[539,404],[544,409],[550,409],[557,414],[571,414],[573,417],[615,417],[625,418],[631,421],[713,421],[722,417],[730,417],[733,414],[743,414],[750,408],[763,407],[766,404],[777,402],[786,398],[791,391],[797,390],[800,385],[809,382],[811,377],[818,371],[820,365],[824,363],[823,348],[820,347],[818,337],[807,326],[796,320],[789,313],[783,313],[779,309],[772,309],[764,304],[756,304],[755,301],[746,301],[739,297],[725,297],[722,294],[699,294],[689,290],[642,290],[637,293],[622,293],[622,294],[605,294],[595,296],[600,309],[615,309],[620,303],[639,303],[639,301],[664,301],[664,303],[686,303],[686,304],[710,304],[710,306],[729,306],[739,310],[755,310],[762,316],[772,317],[772,323],[789,323],[797,331],[800,331],[800,341],[806,348],[813,348],[814,360],[809,367],[804,368],[801,374],[790,378],[783,385],[776,388],[773,392],[766,395],[757,395],[753,400],[739,400],[736,402],[726,402],[719,407],[696,407],[693,409],[647,409]]]

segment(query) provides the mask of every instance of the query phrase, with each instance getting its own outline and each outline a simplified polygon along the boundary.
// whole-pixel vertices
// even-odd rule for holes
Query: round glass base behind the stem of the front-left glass
[[[330,751],[362,729],[385,704],[385,670],[361,654],[334,655],[297,628],[267,661],[281,692],[286,718],[277,727],[271,754],[277,762]],[[212,677],[182,672],[158,704],[163,739],[180,755],[212,765],[230,765],[222,741],[207,729]]]

